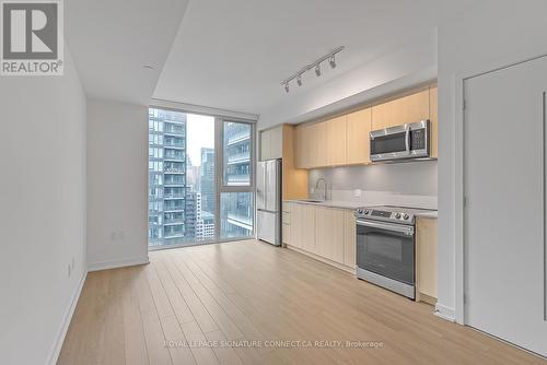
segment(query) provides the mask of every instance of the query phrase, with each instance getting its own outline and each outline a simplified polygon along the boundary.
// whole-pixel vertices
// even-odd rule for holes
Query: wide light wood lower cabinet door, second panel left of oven
[[[315,254],[344,263],[344,211],[315,208]]]

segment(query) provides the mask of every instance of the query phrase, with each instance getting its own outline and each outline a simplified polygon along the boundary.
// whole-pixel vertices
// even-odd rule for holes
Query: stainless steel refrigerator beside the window
[[[281,245],[281,160],[261,161],[256,175],[258,239]]]

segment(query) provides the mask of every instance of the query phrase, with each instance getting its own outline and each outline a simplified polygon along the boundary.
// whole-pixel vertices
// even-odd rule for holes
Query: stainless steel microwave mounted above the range
[[[430,157],[430,122],[421,120],[370,132],[372,162]]]

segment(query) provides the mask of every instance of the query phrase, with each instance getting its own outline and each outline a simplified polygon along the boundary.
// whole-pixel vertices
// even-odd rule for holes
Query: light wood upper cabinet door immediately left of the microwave
[[[346,118],[346,163],[348,165],[371,162],[370,139],[371,108],[347,115]]]

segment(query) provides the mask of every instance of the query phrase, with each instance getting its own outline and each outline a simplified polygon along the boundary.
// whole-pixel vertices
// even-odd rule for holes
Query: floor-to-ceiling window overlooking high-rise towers
[[[253,137],[249,122],[149,108],[151,248],[254,235]]]

